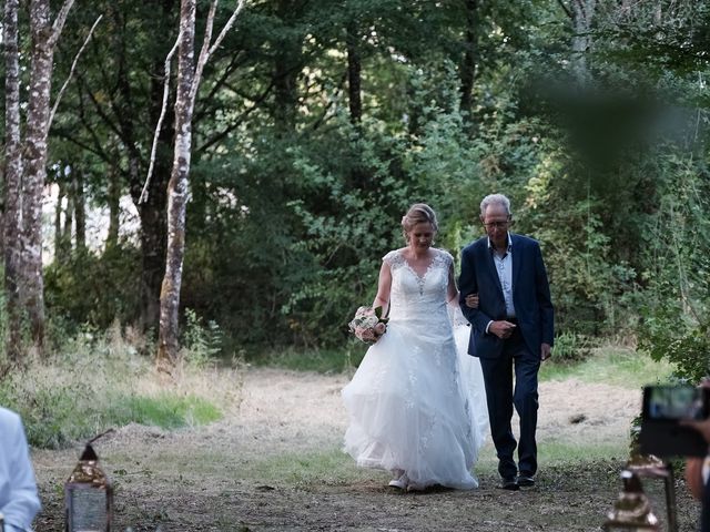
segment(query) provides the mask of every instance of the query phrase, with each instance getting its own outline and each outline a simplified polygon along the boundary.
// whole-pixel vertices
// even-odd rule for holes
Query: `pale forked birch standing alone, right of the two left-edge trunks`
[[[192,151],[192,115],[200,86],[200,80],[210,55],[217,49],[236,16],[244,7],[240,0],[217,38],[212,43],[212,29],[219,0],[210,4],[207,21],[197,63],[195,52],[195,12],[196,0],[182,0],[180,4],[180,34],[178,35],[178,92],[175,96],[175,147],[173,166],[168,183],[168,254],[165,276],[160,294],[160,328],[158,346],[158,366],[169,371],[179,349],[179,308],[182,285],[182,266],[185,255],[185,213],[190,191],[190,156]],[[169,54],[174,53],[173,51]],[[169,63],[166,61],[166,64]],[[165,82],[170,75],[166,69]],[[161,124],[155,130],[158,139]],[[150,171],[148,175],[150,182]]]

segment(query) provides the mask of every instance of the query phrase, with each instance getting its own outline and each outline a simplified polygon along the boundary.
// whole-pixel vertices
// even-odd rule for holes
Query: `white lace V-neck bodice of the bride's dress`
[[[454,257],[443,249],[432,249],[434,258],[424,275],[417,274],[404,258],[402,249],[383,257],[392,270],[389,318],[430,323],[443,319],[448,323],[446,295],[448,272]]]

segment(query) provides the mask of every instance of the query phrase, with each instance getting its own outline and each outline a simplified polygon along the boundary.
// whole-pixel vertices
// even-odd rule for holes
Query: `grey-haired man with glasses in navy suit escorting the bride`
[[[506,196],[491,194],[483,200],[480,221],[487,236],[462,252],[458,280],[462,311],[471,324],[468,352],[480,360],[490,434],[506,490],[535,484],[537,374],[540,362],[550,356],[554,338],[554,309],[540,246],[532,238],[509,233],[511,219]],[[478,294],[477,308],[466,305],[468,294]],[[510,427],[514,405],[520,417],[519,444]]]

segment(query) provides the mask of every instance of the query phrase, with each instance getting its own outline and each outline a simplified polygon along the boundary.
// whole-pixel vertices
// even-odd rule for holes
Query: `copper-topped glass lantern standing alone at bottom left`
[[[112,512],[111,483],[89,443],[64,483],[64,532],[110,532]]]

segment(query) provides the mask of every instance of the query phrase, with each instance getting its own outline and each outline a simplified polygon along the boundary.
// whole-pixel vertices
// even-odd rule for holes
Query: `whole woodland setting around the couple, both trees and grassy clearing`
[[[710,374],[710,2],[0,4],[0,406],[38,532],[89,440],[115,530],[600,530],[641,387]],[[479,490],[386,491],[342,451],[347,324],[412,204],[458,268],[490,193],[555,305],[539,483],[503,499],[488,443]]]

